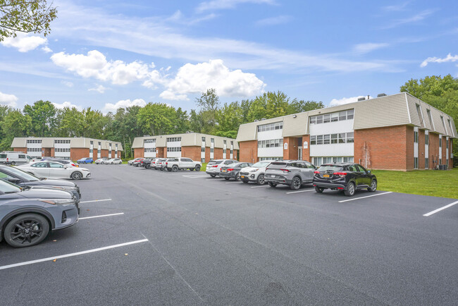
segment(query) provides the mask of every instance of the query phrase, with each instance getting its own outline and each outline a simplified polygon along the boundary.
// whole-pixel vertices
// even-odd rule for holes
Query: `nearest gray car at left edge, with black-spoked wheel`
[[[78,221],[78,202],[63,190],[39,190],[0,180],[0,240],[12,247],[41,243],[49,231]]]

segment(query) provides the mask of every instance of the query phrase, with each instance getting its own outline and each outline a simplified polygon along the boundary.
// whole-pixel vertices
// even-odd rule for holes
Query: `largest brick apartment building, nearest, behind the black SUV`
[[[447,114],[402,92],[240,126],[240,161],[354,161],[369,169],[453,166],[457,137]]]

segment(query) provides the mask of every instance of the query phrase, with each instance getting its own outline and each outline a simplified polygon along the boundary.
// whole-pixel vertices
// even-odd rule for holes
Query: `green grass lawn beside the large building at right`
[[[409,172],[373,170],[378,190],[458,199],[458,168]]]

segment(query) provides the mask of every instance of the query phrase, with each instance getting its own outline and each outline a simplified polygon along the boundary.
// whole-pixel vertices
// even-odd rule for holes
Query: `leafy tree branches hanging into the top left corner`
[[[0,0],[0,42],[16,37],[16,32],[51,32],[50,23],[57,17],[57,8],[47,0]]]

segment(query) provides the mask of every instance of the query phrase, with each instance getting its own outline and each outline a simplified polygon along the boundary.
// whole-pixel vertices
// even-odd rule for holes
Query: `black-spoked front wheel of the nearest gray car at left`
[[[6,224],[4,238],[12,247],[41,243],[49,233],[49,223],[39,214],[21,214]]]

